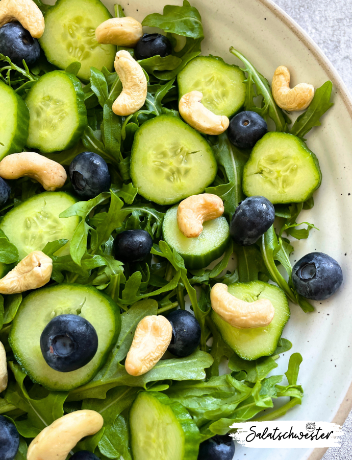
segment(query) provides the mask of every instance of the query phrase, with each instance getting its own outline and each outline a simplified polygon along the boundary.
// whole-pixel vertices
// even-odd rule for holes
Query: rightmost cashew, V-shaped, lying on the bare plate
[[[290,89],[290,71],[284,65],[276,68],[271,91],[276,104],[290,112],[306,109],[314,97],[314,86],[308,83],[299,83]]]

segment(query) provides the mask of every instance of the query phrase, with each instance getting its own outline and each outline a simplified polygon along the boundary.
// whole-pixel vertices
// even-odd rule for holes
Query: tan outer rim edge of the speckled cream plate
[[[311,54],[315,57],[323,70],[328,74],[330,80],[333,82],[335,89],[341,96],[342,101],[349,113],[352,121],[352,97],[349,90],[335,69],[330,59],[324,54],[315,41],[308,35],[308,33],[297,24],[297,22],[286,13],[279,5],[276,5],[272,0],[258,0],[261,4],[267,7],[276,17],[281,19],[284,24],[301,40],[301,42],[309,49]],[[337,409],[332,422],[338,425],[343,425],[350,410],[352,409],[352,382],[350,383],[347,392]],[[307,460],[321,460],[324,453],[328,448],[315,448],[312,449],[311,454]]]

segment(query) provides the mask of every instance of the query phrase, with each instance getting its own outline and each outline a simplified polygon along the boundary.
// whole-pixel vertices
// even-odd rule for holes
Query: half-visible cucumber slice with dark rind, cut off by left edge
[[[0,81],[0,160],[23,150],[28,137],[29,111],[26,103]]]

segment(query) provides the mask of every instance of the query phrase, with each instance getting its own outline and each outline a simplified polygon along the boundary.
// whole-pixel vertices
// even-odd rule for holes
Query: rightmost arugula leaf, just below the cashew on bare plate
[[[320,126],[320,118],[334,104],[330,102],[333,83],[326,81],[320,88],[315,90],[314,98],[308,109],[302,113],[294,122],[291,128],[291,134],[304,139],[304,136],[314,127]]]

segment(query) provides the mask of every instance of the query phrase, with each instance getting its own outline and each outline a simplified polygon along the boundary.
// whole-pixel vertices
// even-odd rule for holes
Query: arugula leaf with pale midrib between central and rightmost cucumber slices
[[[222,199],[224,212],[231,220],[238,204],[244,198],[242,173],[248,157],[229,141],[226,133],[220,134],[215,139],[217,141],[212,144],[212,148],[224,179],[218,179],[219,185],[208,187],[206,193],[213,193]]]

